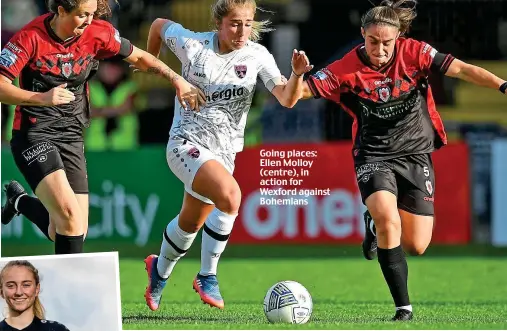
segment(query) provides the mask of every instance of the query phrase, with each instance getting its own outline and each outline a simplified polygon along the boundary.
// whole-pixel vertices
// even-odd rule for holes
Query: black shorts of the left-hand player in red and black
[[[15,135],[11,140],[11,150],[19,171],[34,192],[44,177],[63,169],[74,193],[88,194],[82,141],[57,142]]]

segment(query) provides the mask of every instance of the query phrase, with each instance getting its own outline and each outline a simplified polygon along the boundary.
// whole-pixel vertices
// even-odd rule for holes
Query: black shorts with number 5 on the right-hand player
[[[389,191],[398,198],[399,209],[434,215],[435,174],[430,154],[357,164],[355,168],[363,203],[372,193]]]

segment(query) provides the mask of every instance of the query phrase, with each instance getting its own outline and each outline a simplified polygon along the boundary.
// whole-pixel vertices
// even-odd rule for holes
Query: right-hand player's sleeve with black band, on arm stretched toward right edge
[[[416,47],[412,49],[418,50],[416,61],[419,69],[425,73],[442,73],[445,74],[454,56],[451,54],[444,54],[437,51],[433,46],[425,42],[412,41]]]

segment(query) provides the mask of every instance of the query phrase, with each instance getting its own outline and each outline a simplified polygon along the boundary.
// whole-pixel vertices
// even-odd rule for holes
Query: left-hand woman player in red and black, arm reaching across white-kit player
[[[12,181],[2,223],[21,213],[55,242],[55,253],[80,253],[88,229],[83,130],[90,121],[88,81],[98,61],[118,57],[169,80],[180,102],[204,95],[104,20],[108,0],[51,0],[51,13],[24,26],[0,54],[0,102],[18,105],[11,149],[37,198]],[[12,85],[19,77],[20,88]],[[39,200],[40,199],[40,200]]]

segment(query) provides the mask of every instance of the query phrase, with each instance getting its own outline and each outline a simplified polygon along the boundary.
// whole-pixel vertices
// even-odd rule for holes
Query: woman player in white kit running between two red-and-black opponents
[[[273,56],[256,43],[270,31],[267,21],[254,20],[255,0],[217,0],[212,7],[217,31],[196,33],[178,23],[156,19],[148,36],[148,52],[158,56],[162,41],[182,63],[182,76],[206,95],[200,111],[176,106],[167,162],[184,183],[180,213],[167,225],[160,255],[145,259],[146,303],[160,305],[162,290],[176,262],[204,225],[201,270],[193,282],[201,300],[224,308],[217,264],[238,215],[241,191],[232,176],[236,153],[243,149],[244,129],[257,78],[280,104],[295,105],[310,71],[304,52],[294,50],[292,73],[283,78]]]

